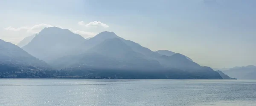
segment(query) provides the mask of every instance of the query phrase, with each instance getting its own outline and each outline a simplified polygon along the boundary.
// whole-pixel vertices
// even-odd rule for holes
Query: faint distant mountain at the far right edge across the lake
[[[237,79],[256,79],[256,66],[242,66],[242,67],[234,67],[229,70],[223,71],[230,77],[235,77]]]

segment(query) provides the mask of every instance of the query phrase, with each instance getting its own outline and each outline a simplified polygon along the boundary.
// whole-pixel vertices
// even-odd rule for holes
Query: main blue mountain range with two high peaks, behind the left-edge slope
[[[93,71],[90,73],[97,72],[99,75],[100,72],[102,75],[111,70],[114,76],[122,76],[121,73],[125,72],[130,75],[129,78],[223,79],[218,72],[210,67],[200,66],[183,54],[171,51],[153,52],[117,36],[114,32],[101,32],[95,37],[84,39],[68,29],[49,27],[35,35],[22,49],[26,54],[29,53],[27,55],[31,54],[30,57],[37,63],[47,63],[55,69],[66,71],[90,70]],[[22,49],[19,48],[20,52]],[[151,74],[145,75],[146,73]]]

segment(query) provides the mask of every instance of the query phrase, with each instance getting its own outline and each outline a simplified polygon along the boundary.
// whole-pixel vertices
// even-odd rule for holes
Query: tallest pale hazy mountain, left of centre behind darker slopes
[[[69,54],[71,49],[81,45],[84,41],[84,37],[74,34],[68,29],[49,27],[39,32],[22,49],[39,59],[49,62]]]

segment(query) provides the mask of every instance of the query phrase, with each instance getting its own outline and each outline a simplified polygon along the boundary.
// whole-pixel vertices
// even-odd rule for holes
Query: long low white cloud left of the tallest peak
[[[14,31],[14,32],[25,30],[28,33],[34,34],[34,33],[40,32],[42,29],[44,29],[46,27],[52,27],[52,25],[41,23],[41,24],[38,24],[38,25],[30,26],[30,27],[29,26],[22,26],[20,28],[13,28],[12,26],[9,26],[9,27],[5,28],[5,30]]]

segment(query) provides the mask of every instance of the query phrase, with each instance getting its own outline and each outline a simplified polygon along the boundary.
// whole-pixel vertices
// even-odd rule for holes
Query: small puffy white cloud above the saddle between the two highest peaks
[[[101,23],[100,21],[93,21],[93,22],[90,22],[87,24],[85,24],[84,21],[79,21],[78,25],[86,26],[86,27],[93,27],[93,28],[97,28],[97,27],[108,28],[109,27],[107,24]]]

